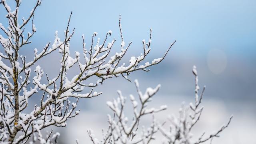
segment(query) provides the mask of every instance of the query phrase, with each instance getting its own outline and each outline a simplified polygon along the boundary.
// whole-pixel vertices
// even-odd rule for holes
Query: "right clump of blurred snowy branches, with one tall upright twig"
[[[196,141],[193,142],[191,140],[193,136],[191,130],[194,127],[194,125],[198,122],[202,114],[203,107],[201,107],[200,104],[202,102],[202,97],[204,95],[205,90],[204,86],[200,96],[198,95],[200,87],[198,86],[198,73],[196,70],[196,66],[193,67],[192,72],[195,76],[196,83],[195,103],[190,103],[189,106],[185,106],[184,104],[182,104],[182,107],[179,110],[179,116],[170,116],[168,118],[170,122],[170,130],[166,130],[164,126],[158,124],[160,132],[166,138],[164,144],[200,144],[208,140],[211,141],[212,138],[219,137],[220,132],[222,132],[225,128],[228,127],[233,117],[231,116],[227,124],[223,125],[220,129],[213,132],[212,134],[206,136],[205,132],[203,132],[202,135]]]

